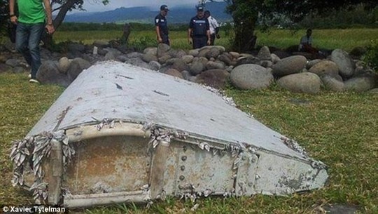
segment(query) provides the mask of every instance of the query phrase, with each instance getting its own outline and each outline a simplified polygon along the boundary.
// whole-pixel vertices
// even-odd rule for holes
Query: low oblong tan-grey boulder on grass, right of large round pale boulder
[[[319,76],[309,72],[283,76],[277,83],[282,88],[295,93],[316,94],[319,93],[321,88]]]

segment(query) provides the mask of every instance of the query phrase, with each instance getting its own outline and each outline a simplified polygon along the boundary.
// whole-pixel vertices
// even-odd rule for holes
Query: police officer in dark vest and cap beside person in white
[[[209,20],[204,17],[204,7],[197,7],[197,15],[189,22],[188,41],[193,44],[193,48],[202,48],[210,45],[210,25]]]

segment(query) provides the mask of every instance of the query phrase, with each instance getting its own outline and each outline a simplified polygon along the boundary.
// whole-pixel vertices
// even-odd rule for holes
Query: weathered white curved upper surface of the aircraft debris
[[[28,135],[80,126],[94,119],[152,122],[302,158],[282,143],[281,134],[203,86],[120,62],[99,63],[83,71]]]

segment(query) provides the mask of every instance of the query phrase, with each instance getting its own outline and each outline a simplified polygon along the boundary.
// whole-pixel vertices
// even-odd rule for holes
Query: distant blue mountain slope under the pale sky
[[[232,20],[231,16],[225,13],[227,4],[224,1],[209,2],[206,9],[218,22]],[[169,8],[167,20],[169,23],[188,23],[190,18],[197,13],[195,6],[179,6]],[[94,13],[73,13],[66,15],[64,22],[141,22],[153,23],[153,18],[159,11],[149,7],[117,8],[113,11],[94,12]]]

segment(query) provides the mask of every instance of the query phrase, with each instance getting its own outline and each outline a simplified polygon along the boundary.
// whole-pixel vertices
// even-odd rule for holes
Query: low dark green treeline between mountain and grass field
[[[151,30],[155,29],[155,26],[152,24],[144,24],[144,23],[137,23],[137,22],[130,22],[128,23],[132,30],[134,31],[143,31],[143,30]],[[106,30],[122,30],[123,25],[125,23],[83,23],[83,22],[63,22],[62,25],[59,26],[59,31],[106,31]],[[185,31],[188,29],[188,25],[186,24],[172,24],[169,25],[170,31]]]

